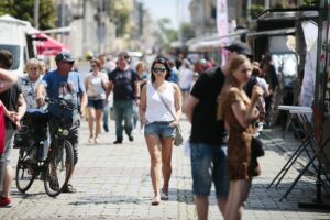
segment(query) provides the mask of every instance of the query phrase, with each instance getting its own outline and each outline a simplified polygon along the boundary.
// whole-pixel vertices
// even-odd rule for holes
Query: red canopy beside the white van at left
[[[34,40],[36,42],[37,55],[50,56],[63,51],[69,51],[68,46],[43,33],[35,34]]]

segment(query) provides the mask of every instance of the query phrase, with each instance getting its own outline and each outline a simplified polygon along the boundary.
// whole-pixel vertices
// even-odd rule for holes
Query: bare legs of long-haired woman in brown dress
[[[241,220],[246,204],[252,179],[231,180],[228,201],[226,205],[226,220]]]

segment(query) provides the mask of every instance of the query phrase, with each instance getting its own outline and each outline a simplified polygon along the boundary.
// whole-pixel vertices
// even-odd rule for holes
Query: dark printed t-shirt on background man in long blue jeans
[[[140,80],[136,72],[116,68],[109,74],[109,80],[113,82],[114,100],[134,99],[134,82]]]

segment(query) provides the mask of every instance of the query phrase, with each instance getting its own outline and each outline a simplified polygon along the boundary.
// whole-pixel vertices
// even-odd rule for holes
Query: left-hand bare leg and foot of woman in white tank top
[[[152,178],[152,184],[154,188],[154,198],[153,201],[161,200],[161,166],[162,166],[162,152],[160,147],[160,139],[156,135],[147,135],[145,136],[145,142],[147,145],[150,158],[151,158],[151,167],[150,174]]]

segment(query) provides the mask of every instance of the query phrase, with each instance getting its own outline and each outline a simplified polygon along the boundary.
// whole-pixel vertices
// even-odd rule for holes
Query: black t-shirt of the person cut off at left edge
[[[22,94],[21,87],[14,84],[10,89],[0,92],[0,100],[9,111],[18,111],[19,96]],[[15,129],[14,123],[6,117],[6,129]]]

